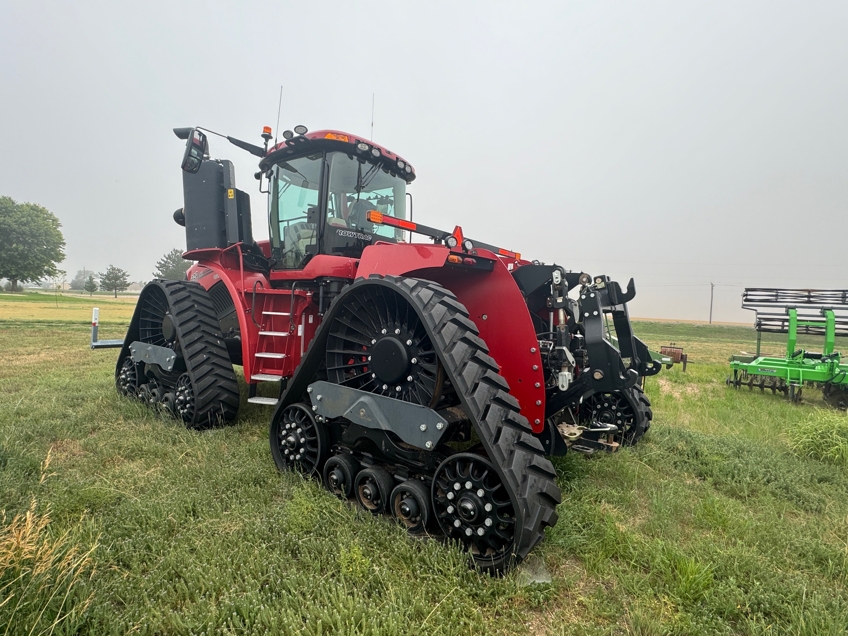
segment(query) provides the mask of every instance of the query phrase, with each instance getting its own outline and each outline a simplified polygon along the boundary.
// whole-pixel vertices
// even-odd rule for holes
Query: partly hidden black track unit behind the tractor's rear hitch
[[[611,393],[594,393],[583,402],[580,412],[582,423],[600,421],[602,424],[615,424],[618,427],[616,442],[628,446],[639,442],[654,417],[650,410],[650,399],[638,387]]]

